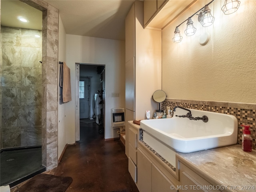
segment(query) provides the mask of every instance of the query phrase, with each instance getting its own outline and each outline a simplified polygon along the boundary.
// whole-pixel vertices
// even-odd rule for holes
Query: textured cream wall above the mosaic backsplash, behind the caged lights
[[[168,98],[256,103],[255,0],[242,0],[230,15],[221,10],[224,1],[214,1],[212,26],[194,16],[196,34],[184,34],[185,22],[182,42],[172,42],[175,27],[208,2],[197,1],[162,31],[162,89]],[[202,32],[210,33],[205,46],[198,43]]]

